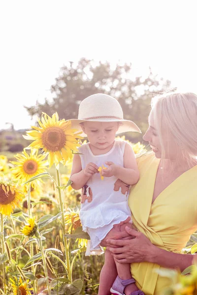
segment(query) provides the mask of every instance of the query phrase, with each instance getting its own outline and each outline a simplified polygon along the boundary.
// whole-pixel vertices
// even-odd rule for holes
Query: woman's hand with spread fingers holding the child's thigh
[[[136,232],[129,227],[125,228],[132,239],[107,239],[106,242],[113,245],[107,246],[114,260],[118,263],[151,262],[155,247],[142,233]],[[114,248],[116,247],[116,248]]]

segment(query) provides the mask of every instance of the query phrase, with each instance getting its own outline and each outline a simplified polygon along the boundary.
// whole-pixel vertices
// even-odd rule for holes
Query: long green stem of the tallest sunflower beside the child
[[[71,277],[71,269],[70,269],[70,256],[69,256],[69,247],[67,243],[66,238],[66,225],[65,225],[65,214],[64,214],[64,199],[62,197],[62,190],[60,188],[61,182],[60,182],[60,172],[58,169],[56,169],[57,174],[57,180],[58,180],[58,193],[59,193],[59,199],[60,199],[60,208],[62,212],[62,230],[63,230],[63,240],[64,240],[64,248],[65,248],[65,255],[66,255],[66,268],[67,268],[67,275],[68,280],[72,281]]]

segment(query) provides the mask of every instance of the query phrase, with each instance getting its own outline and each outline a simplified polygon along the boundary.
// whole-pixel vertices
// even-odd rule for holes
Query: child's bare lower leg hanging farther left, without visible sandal
[[[116,264],[109,251],[105,251],[104,266],[100,271],[98,295],[111,295],[110,288],[117,277]]]

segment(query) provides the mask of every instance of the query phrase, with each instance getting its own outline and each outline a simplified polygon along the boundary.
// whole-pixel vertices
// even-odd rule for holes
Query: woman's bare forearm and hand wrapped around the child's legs
[[[178,254],[163,250],[153,245],[150,240],[142,233],[136,232],[128,227],[126,231],[131,236],[129,240],[107,239],[107,246],[114,260],[119,263],[139,263],[150,262],[166,268],[179,268],[183,271],[186,267],[192,265],[193,254]],[[119,246],[119,248],[113,248]]]

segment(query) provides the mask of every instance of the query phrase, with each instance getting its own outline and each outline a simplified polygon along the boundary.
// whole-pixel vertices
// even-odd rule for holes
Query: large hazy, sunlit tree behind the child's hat
[[[109,62],[96,63],[94,60],[82,58],[78,63],[72,61],[61,68],[56,83],[51,86],[53,101],[45,98],[44,104],[38,101],[35,106],[25,107],[29,114],[41,116],[57,111],[60,118],[77,118],[80,102],[94,93],[106,93],[118,99],[124,118],[133,120],[142,133],[147,128],[150,112],[150,100],[153,94],[169,89],[170,81],[164,81],[153,75],[151,69],[146,78],[133,77],[132,64],[117,63],[115,67]],[[139,134],[129,134],[141,141]]]

